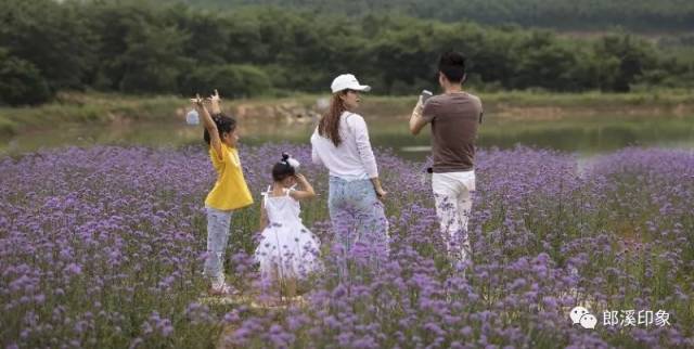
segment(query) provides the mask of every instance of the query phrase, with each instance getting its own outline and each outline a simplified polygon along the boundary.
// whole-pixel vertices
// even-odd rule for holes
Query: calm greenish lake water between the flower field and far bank
[[[15,155],[65,145],[180,146],[202,142],[201,126],[175,120],[168,124],[132,121],[118,126],[62,126],[0,140],[0,154]],[[423,159],[429,153],[428,128],[412,137],[408,131],[407,117],[367,116],[367,122],[374,146],[390,147],[410,159]],[[244,120],[240,133],[246,144],[268,141],[308,143],[312,129],[311,124]],[[506,148],[523,144],[575,153],[579,157],[630,145],[694,150],[694,115],[569,115],[534,121],[486,116],[479,130],[480,147]]]

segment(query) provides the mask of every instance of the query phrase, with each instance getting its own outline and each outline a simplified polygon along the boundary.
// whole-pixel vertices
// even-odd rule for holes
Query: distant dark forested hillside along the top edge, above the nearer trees
[[[622,27],[639,31],[694,29],[691,0],[160,0],[219,9],[240,5],[281,5],[316,13],[355,16],[378,12],[439,20],[474,21],[488,25],[520,26],[562,30],[601,30]]]

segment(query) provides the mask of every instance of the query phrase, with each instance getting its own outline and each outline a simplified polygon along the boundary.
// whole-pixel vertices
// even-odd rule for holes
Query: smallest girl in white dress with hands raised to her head
[[[260,227],[255,258],[264,279],[301,279],[318,268],[319,242],[301,223],[299,201],[316,196],[299,163],[286,153],[272,167],[273,183],[262,193]],[[299,189],[294,186],[298,184]]]

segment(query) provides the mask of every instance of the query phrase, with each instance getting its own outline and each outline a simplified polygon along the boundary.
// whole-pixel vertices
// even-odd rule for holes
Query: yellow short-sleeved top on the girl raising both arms
[[[239,152],[224,143],[221,144],[221,159],[213,146],[209,158],[217,171],[217,182],[207,194],[205,206],[219,210],[230,210],[253,204],[253,197],[246,180],[243,178]]]

